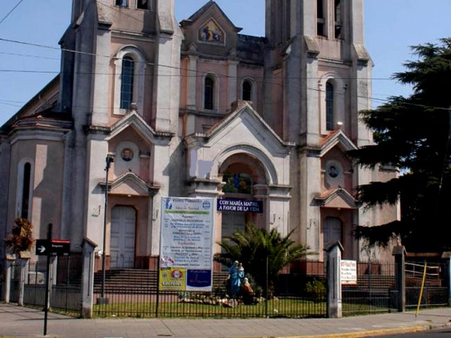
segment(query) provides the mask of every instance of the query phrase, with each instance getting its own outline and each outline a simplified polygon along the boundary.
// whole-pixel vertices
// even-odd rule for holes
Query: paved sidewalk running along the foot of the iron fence
[[[0,337],[42,337],[44,312],[0,304]],[[49,313],[49,337],[368,337],[451,326],[451,308],[341,319],[72,319]]]

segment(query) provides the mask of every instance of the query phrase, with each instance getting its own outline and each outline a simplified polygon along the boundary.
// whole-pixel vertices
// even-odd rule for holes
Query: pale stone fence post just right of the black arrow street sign
[[[94,249],[98,246],[89,238],[83,238],[83,272],[82,272],[82,310],[81,317],[92,317],[94,301]]]

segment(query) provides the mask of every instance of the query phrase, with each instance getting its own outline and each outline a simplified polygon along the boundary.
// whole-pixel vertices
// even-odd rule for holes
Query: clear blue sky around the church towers
[[[295,0],[300,1],[300,0]],[[176,0],[178,21],[207,0]],[[216,0],[241,33],[264,35],[264,0]],[[3,0],[0,6],[0,125],[33,98],[60,69],[58,41],[71,15],[71,0]],[[11,13],[17,4],[19,4]],[[409,46],[451,36],[451,0],[365,0],[365,45],[375,67],[373,98],[410,93],[391,80],[412,60]],[[4,42],[1,39],[38,44]],[[45,48],[42,46],[46,46]],[[50,47],[50,48],[49,48]],[[374,101],[373,105],[377,105]]]

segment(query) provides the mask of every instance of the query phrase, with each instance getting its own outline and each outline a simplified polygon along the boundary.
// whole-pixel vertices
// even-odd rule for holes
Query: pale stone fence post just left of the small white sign
[[[343,246],[339,241],[330,244],[327,252],[327,317],[341,318],[340,262]]]

